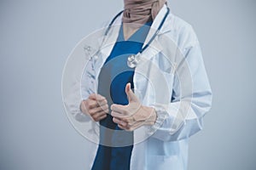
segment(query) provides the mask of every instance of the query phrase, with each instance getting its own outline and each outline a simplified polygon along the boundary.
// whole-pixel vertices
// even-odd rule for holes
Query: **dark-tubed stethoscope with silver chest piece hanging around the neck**
[[[111,20],[110,24],[108,25],[107,30],[105,31],[104,36],[107,37],[108,36],[108,32],[110,31],[111,26],[113,26],[113,22],[119,17],[120,14],[122,14],[124,12],[124,10],[120,11],[119,14],[116,14],[113,17],[113,20]],[[130,68],[135,68],[137,66],[137,64],[140,61],[140,56],[143,53],[143,51],[145,51],[149,45],[151,44],[151,42],[153,42],[154,38],[157,36],[157,34],[159,33],[160,29],[162,28],[162,26],[164,25],[167,15],[170,13],[170,8],[167,7],[167,11],[166,11],[166,15],[163,18],[163,20],[160,23],[160,26],[157,28],[157,30],[154,32],[154,35],[151,37],[151,39],[148,41],[148,43],[137,53],[137,54],[131,54],[128,56],[127,58],[127,65]]]

